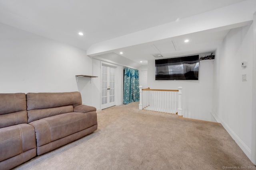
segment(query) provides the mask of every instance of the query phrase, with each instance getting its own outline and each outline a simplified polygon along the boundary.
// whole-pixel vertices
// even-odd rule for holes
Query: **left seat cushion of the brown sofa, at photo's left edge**
[[[35,131],[31,125],[24,123],[0,128],[0,161],[35,148]]]

